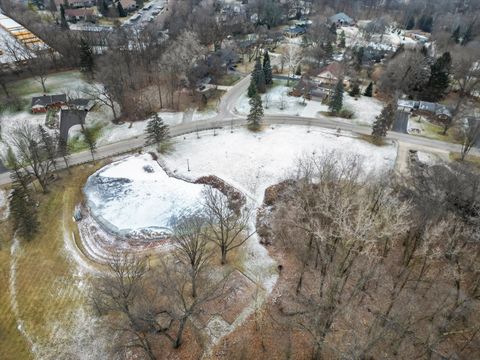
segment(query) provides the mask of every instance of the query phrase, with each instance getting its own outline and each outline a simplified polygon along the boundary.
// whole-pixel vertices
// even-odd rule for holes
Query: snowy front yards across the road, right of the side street
[[[320,112],[327,112],[328,105],[322,104],[317,100],[306,100],[303,98],[288,96],[291,88],[282,85],[272,87],[266,94],[262,95],[265,115],[291,115],[300,117],[318,118],[323,115]],[[249,98],[247,94],[242,94],[235,106],[240,114],[248,114],[250,111]],[[381,101],[360,96],[357,100],[348,94],[343,97],[344,108],[355,113],[352,120],[358,124],[371,125],[375,121],[375,117],[382,111],[383,104]],[[268,108],[267,108],[268,105]],[[283,105],[283,110],[282,110]]]

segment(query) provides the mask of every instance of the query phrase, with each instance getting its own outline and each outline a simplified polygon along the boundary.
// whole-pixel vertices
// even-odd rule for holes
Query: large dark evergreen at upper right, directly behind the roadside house
[[[430,67],[430,78],[423,91],[423,100],[436,102],[441,100],[450,86],[452,57],[449,52],[440,56]]]

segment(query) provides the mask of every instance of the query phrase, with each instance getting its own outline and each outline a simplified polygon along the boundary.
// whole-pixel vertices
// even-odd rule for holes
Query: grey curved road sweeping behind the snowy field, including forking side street
[[[249,76],[240,80],[235,86],[231,87],[227,93],[222,97],[219,104],[218,115],[215,117],[203,120],[195,121],[186,124],[180,124],[170,127],[170,134],[172,136],[179,136],[195,131],[208,130],[212,128],[238,126],[246,123],[246,117],[236,113],[235,105],[241,94],[243,94],[249,85]],[[327,129],[335,129],[341,131],[350,131],[359,134],[368,135],[371,133],[371,128],[368,126],[356,125],[346,121],[338,119],[321,117],[321,118],[308,118],[291,115],[272,116],[267,115],[263,118],[263,121],[267,124],[289,124],[289,125],[307,125],[322,127]],[[396,140],[400,145],[408,148],[427,149],[431,151],[442,152],[460,152],[461,146],[443,141],[427,139],[419,136],[402,134],[397,132],[389,132],[387,139]],[[145,143],[145,136],[137,136],[135,138],[122,140],[116,143],[108,144],[99,147],[95,153],[96,159],[104,159],[110,156],[127,153],[143,147]],[[473,149],[472,153],[479,154],[478,149]],[[70,165],[78,165],[91,161],[91,155],[89,151],[83,151],[72,154],[70,156]],[[58,160],[59,167],[63,166],[63,160]],[[0,174],[0,185],[10,183],[9,173]]]

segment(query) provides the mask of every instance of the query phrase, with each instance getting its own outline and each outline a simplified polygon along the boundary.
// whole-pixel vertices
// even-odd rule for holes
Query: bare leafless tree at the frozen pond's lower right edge
[[[209,229],[207,236],[220,249],[221,264],[227,263],[230,251],[242,246],[255,231],[250,231],[248,209],[233,209],[228,198],[212,187],[204,192],[204,209]]]

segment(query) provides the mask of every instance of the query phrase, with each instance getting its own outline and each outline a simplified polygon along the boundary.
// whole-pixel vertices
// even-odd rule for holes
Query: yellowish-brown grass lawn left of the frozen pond
[[[11,253],[13,234],[9,222],[0,223],[2,359],[32,358],[28,342],[17,329],[19,323],[38,345],[36,351],[39,358],[69,357],[54,349],[59,344],[75,342],[73,332],[77,328],[78,311],[86,300],[81,283],[88,279],[79,277],[76,263],[69,259],[65,250],[64,231],[70,234],[76,229],[72,220],[73,210],[82,199],[81,188],[86,178],[95,169],[84,165],[72,169],[71,175],[65,171],[52,184],[48,194],[38,195],[39,233],[30,242],[20,240],[14,255]],[[14,260],[15,273],[12,272]],[[15,311],[13,306],[16,307]]]

